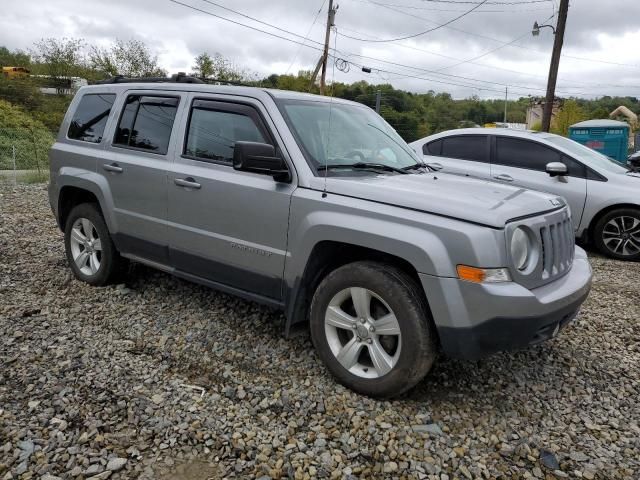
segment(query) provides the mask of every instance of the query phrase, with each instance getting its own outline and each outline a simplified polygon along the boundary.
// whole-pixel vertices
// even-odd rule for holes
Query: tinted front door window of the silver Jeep
[[[231,163],[236,142],[270,143],[258,126],[257,114],[251,107],[220,108],[217,102],[194,102],[184,150],[186,155]]]

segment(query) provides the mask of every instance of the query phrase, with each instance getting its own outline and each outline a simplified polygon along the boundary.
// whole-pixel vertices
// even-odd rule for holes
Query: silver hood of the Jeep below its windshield
[[[316,177],[313,188],[324,188]],[[555,195],[446,173],[328,177],[327,192],[452,217],[494,228],[563,207]]]

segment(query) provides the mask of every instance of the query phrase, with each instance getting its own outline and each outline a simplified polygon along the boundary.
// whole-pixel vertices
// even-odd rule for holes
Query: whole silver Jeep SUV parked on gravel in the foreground
[[[115,78],[79,90],[50,160],[78,279],[132,260],[280,308],[371,396],[411,388],[440,350],[553,337],[591,285],[564,200],[431,172],[353,102]]]

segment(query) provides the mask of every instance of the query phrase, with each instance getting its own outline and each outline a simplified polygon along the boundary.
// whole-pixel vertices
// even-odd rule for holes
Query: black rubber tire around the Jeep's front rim
[[[334,296],[353,287],[380,296],[398,320],[402,347],[397,363],[378,378],[350,372],[338,361],[327,339],[325,312]],[[314,347],[333,376],[347,388],[371,397],[390,398],[414,387],[431,370],[438,352],[433,321],[418,286],[401,270],[382,263],[355,262],[329,273],[314,293],[310,323]]]

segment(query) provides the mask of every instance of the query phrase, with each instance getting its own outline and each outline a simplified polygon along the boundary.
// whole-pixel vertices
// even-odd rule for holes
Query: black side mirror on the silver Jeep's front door
[[[278,182],[291,181],[286,162],[276,156],[275,147],[268,143],[236,142],[233,149],[233,168],[271,175]]]

